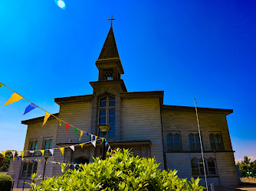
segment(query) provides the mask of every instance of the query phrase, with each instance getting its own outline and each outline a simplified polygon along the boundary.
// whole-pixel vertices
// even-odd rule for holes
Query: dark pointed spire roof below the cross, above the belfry
[[[115,36],[113,34],[112,26],[110,27],[110,31],[107,34],[107,38],[100,51],[100,56],[98,60],[111,59],[111,58],[119,58],[119,53],[117,50],[117,44],[116,44]]]

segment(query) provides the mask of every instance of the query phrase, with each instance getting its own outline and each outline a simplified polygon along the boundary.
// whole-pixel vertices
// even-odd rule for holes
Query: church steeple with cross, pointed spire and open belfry
[[[99,70],[99,81],[119,80],[121,79],[121,74],[124,73],[113,34],[112,21],[114,19],[109,20],[111,21],[110,31],[100,51],[100,56],[95,63]]]

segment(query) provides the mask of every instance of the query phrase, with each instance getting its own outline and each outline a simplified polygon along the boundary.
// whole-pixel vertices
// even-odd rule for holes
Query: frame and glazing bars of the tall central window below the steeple
[[[100,100],[101,99],[104,99],[104,98],[107,98],[106,99],[106,106],[100,106]],[[114,101],[114,105],[110,105],[110,98],[113,98],[112,101]],[[104,125],[110,125],[110,116],[114,117],[114,130],[113,130],[113,126],[110,128],[110,131],[113,130],[113,138],[114,139],[116,137],[116,133],[115,133],[115,130],[116,130],[116,98],[115,98],[115,95],[110,95],[110,94],[107,94],[107,95],[103,95],[99,98],[98,100],[98,125],[100,125],[100,110],[105,110],[106,111],[106,115],[105,116],[105,123]],[[110,109],[114,109],[114,115],[110,115]],[[112,124],[112,123],[111,123]],[[111,126],[111,125],[110,125]],[[100,135],[100,131],[98,132],[98,135]],[[107,138],[109,138],[109,132],[107,133]]]

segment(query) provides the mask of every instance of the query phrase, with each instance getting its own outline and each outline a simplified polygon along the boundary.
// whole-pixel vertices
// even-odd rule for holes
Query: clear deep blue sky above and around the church
[[[91,94],[95,60],[110,29],[128,91],[164,90],[164,104],[232,108],[235,158],[256,157],[255,1],[0,1],[0,82],[49,112],[54,98]],[[22,151],[28,102],[4,106],[0,151]],[[88,119],[90,120],[90,119]]]

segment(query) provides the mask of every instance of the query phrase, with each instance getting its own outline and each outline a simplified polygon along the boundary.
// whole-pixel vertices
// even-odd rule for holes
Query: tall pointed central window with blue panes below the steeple
[[[100,99],[99,125],[111,126],[108,138],[115,138],[115,115],[115,98],[107,95]]]

